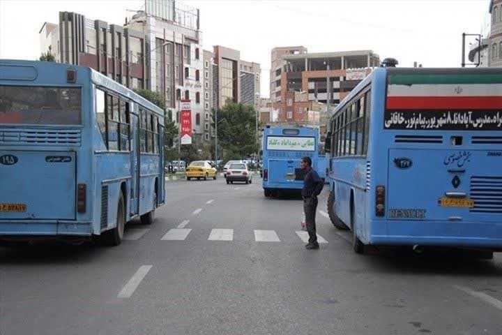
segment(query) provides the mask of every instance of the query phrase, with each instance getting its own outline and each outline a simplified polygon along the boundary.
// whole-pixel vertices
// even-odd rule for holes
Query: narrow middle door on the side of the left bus
[[[130,171],[131,171],[131,183],[130,183],[130,215],[139,214],[139,117],[137,113],[139,112],[134,103],[130,103],[130,110],[134,114],[130,113],[130,137],[131,137],[131,154],[130,154]]]

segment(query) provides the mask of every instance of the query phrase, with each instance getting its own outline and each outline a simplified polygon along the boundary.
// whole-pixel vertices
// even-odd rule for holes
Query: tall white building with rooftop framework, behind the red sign
[[[146,1],[125,27],[142,31],[151,46],[151,89],[162,94],[179,122],[181,99],[189,99],[195,142],[204,134],[203,50],[199,10],[174,0]],[[176,115],[174,115],[176,114]]]

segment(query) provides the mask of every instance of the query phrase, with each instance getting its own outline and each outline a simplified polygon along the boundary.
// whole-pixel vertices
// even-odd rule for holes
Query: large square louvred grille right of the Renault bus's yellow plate
[[[502,213],[502,177],[471,177],[471,212]]]

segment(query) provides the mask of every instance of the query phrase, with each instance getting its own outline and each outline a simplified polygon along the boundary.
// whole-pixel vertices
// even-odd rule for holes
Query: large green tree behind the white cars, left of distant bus
[[[219,110],[213,110],[213,125],[216,112],[218,112],[218,149],[222,149],[222,155],[218,156],[229,160],[257,152],[259,149],[256,140],[257,111],[252,105],[230,103]]]

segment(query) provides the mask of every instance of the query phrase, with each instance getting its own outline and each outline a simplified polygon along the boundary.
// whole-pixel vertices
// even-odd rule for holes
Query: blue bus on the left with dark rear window
[[[97,239],[164,204],[164,112],[82,66],[0,60],[0,240]]]

